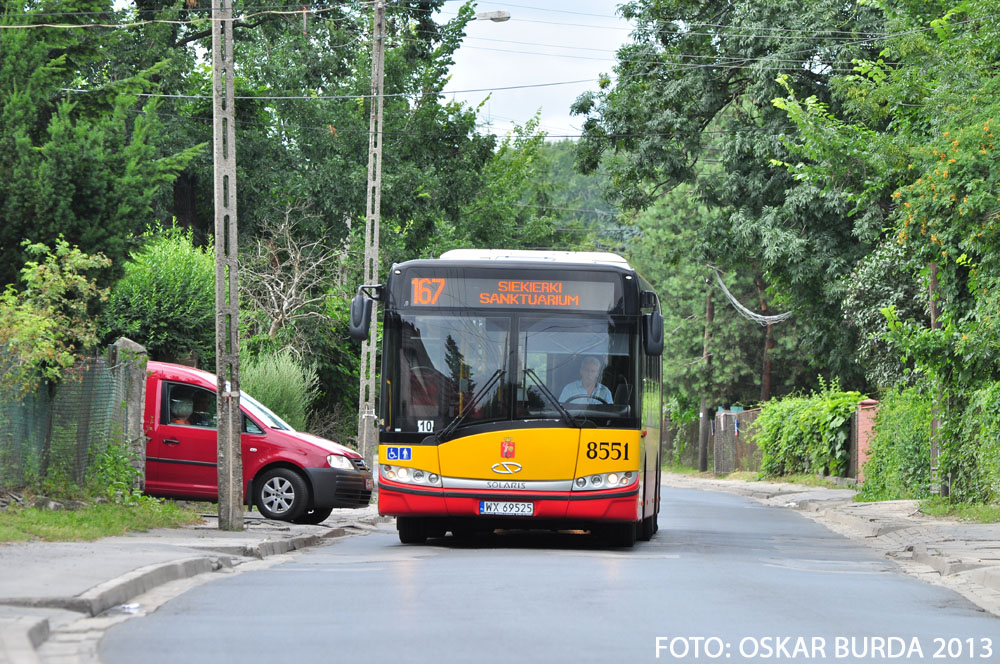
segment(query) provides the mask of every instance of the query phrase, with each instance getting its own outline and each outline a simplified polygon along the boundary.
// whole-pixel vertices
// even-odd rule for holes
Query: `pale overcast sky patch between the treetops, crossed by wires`
[[[473,21],[455,54],[448,91],[452,98],[477,106],[484,130],[498,135],[513,123],[524,124],[541,110],[540,129],[551,138],[578,136],[582,118],[570,115],[573,101],[597,89],[601,74],[612,74],[615,51],[627,41],[628,23],[617,14],[620,3],[609,0],[481,1],[477,12],[506,9],[503,23]],[[461,3],[445,4],[441,18],[453,17]],[[564,81],[585,81],[513,90],[501,88]]]

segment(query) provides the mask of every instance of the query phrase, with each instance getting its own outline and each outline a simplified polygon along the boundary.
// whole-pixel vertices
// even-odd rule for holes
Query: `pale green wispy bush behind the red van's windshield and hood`
[[[243,362],[240,387],[273,410],[293,429],[304,430],[319,389],[316,370],[289,351],[259,355]]]

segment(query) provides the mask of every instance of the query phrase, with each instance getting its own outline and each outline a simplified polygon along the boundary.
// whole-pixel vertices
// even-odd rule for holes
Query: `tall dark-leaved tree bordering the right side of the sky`
[[[804,323],[797,336],[815,369],[863,382],[841,277],[875,238],[839,196],[772,163],[787,161],[782,136],[794,127],[771,99],[785,72],[830,100],[833,75],[873,52],[866,35],[882,29],[881,13],[834,0],[636,0],[622,14],[636,29],[615,82],[574,105],[584,116],[578,164],[606,163],[611,197],[630,209],[692,185],[717,211],[698,231],[706,258],[755,265]]]

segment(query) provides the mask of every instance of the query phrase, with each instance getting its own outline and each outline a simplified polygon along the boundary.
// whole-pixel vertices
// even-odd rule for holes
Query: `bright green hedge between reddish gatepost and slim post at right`
[[[930,395],[917,387],[882,395],[859,499],[930,495],[931,403]]]

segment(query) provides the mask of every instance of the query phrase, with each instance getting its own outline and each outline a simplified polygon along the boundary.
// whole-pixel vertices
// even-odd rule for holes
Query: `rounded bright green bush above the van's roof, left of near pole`
[[[156,228],[125,264],[101,329],[106,340],[126,336],[156,360],[215,361],[215,259],[195,247],[190,231]]]

